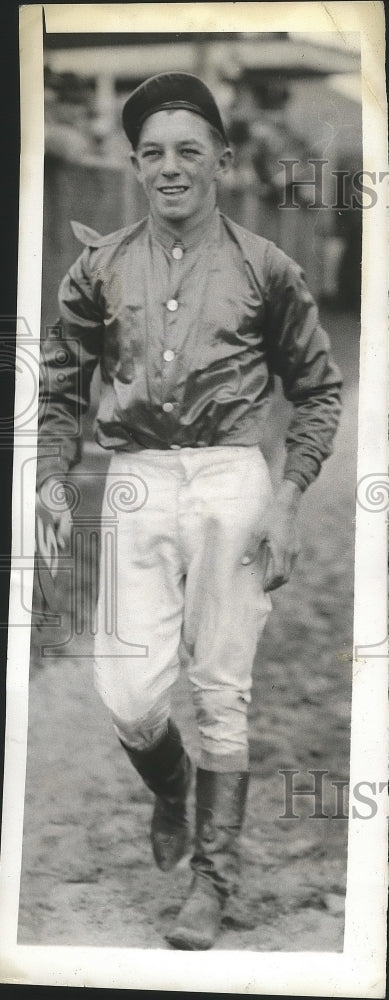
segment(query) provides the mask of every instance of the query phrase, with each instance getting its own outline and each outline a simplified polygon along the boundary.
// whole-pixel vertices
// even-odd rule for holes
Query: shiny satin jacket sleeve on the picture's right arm
[[[268,251],[265,299],[269,366],[293,403],[284,478],[304,490],[332,452],[342,376],[301,268],[274,245]]]

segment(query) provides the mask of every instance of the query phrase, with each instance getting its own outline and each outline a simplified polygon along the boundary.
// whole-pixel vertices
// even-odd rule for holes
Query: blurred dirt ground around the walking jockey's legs
[[[343,947],[347,821],[334,818],[332,782],[347,780],[349,770],[359,330],[356,319],[341,314],[329,314],[325,323],[346,376],[343,419],[335,453],[304,497],[301,557],[292,581],[274,595],[257,654],[242,837],[242,911],[252,926],[233,929],[226,921],[218,949]],[[285,407],[277,419],[269,437],[275,476]],[[79,471],[86,507],[96,514],[99,489],[86,475],[93,467],[87,449]],[[86,599],[88,580],[80,593]],[[68,624],[65,614],[65,639]],[[33,636],[19,942],[168,948],[163,935],[185,897],[188,859],[169,875],[153,864],[152,795],[130,768],[94,692],[88,629],[65,642],[60,658],[58,649],[42,658],[42,641],[58,642],[58,632]],[[174,716],[196,761],[184,672]],[[310,769],[328,772],[322,779],[328,818],[309,818],[307,797],[294,799],[297,818],[282,818],[282,769],[298,772],[300,788],[312,787]]]

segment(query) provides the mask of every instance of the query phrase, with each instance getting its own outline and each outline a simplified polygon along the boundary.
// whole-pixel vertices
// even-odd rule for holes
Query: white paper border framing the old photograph
[[[18,315],[27,321],[31,351],[39,351],[43,216],[43,7],[20,11],[21,183]],[[261,31],[347,32],[361,35],[364,170],[387,170],[384,9],[381,3],[135,3],[45,4],[48,32]],[[362,331],[359,386],[358,483],[387,484],[387,181],[363,213]],[[35,333],[35,336],[34,336]],[[24,322],[18,340],[26,336]],[[26,403],[16,373],[15,414]],[[35,419],[35,418],[33,418]],[[34,429],[34,423],[31,423]],[[36,427],[35,427],[36,430]],[[383,997],[387,905],[387,818],[384,797],[375,816],[352,818],[350,800],[343,953],[169,952],[123,948],[35,947],[17,944],[27,752],[30,629],[20,598],[17,484],[21,463],[36,455],[34,438],[15,437],[13,546],[8,645],[0,920],[2,981],[20,984]],[[35,462],[27,463],[23,512],[34,557]],[[383,484],[383,485],[382,485]],[[386,492],[385,492],[386,491]],[[354,667],[350,789],[363,776],[387,780],[386,511],[356,503]],[[31,587],[32,569],[25,570]],[[24,627],[20,627],[24,626]],[[351,793],[350,793],[351,795]]]

